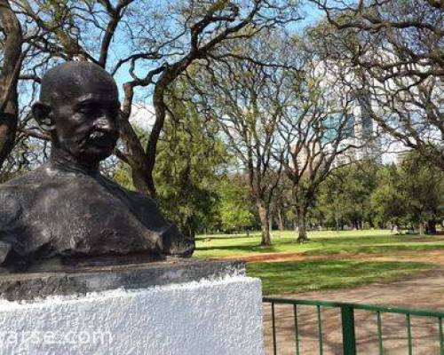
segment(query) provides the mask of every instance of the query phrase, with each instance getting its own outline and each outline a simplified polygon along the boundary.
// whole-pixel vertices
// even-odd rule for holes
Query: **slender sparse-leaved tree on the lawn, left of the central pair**
[[[202,109],[218,122],[228,149],[248,176],[261,243],[270,245],[270,208],[281,177],[273,152],[282,107],[289,100],[289,91],[284,90],[288,64],[282,61],[290,57],[289,46],[270,32],[239,41],[234,49],[236,58],[217,53],[210,69],[194,75],[192,82],[202,98]]]

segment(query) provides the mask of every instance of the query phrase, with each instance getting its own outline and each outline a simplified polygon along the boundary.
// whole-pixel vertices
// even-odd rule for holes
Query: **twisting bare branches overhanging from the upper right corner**
[[[313,0],[325,56],[349,68],[371,97],[372,118],[392,138],[444,169],[442,2]]]

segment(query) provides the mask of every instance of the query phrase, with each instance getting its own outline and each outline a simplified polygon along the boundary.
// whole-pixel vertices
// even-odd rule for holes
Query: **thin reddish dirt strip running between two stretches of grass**
[[[243,260],[245,262],[281,262],[281,261],[310,261],[310,260],[368,260],[368,261],[412,261],[444,265],[444,250],[425,250],[425,251],[399,251],[385,254],[331,254],[310,256],[301,253],[258,253],[247,256],[227,256],[226,259]]]

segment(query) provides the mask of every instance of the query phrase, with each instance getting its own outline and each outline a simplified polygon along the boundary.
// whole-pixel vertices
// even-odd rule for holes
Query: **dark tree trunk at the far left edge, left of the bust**
[[[8,1],[0,0],[4,31],[3,65],[0,67],[0,168],[11,153],[19,122],[17,83],[22,62],[20,22]]]

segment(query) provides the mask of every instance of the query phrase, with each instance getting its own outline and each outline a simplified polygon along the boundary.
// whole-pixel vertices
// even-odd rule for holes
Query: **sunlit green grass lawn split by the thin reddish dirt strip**
[[[260,253],[321,256],[317,260],[247,264],[249,275],[262,280],[264,295],[281,295],[326,288],[350,288],[440,267],[420,262],[347,260],[347,256],[361,253],[399,256],[403,252],[423,250],[443,250],[444,253],[442,236],[392,235],[386,230],[375,230],[312,232],[309,238],[311,241],[297,244],[294,232],[275,232],[273,246],[262,247],[259,233],[251,233],[249,237],[245,234],[202,235],[196,240],[194,256],[241,257]],[[329,259],[334,254],[341,257]]]

